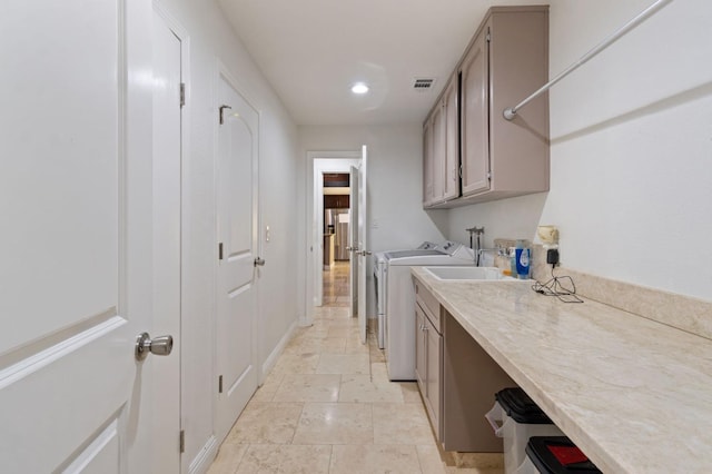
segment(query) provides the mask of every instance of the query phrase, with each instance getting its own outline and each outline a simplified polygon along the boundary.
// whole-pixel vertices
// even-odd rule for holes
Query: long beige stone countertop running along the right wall
[[[601,471],[712,472],[712,340],[531,282],[413,275]]]

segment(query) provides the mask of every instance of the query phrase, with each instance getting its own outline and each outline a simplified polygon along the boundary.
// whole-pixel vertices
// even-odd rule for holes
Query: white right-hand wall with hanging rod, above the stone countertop
[[[551,3],[553,77],[652,0]],[[708,0],[672,1],[554,86],[551,191],[453,209],[448,234],[554,224],[566,267],[712,299],[711,28]]]

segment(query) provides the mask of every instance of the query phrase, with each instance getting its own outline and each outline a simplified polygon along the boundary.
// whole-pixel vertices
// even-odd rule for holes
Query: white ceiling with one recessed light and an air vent
[[[299,125],[421,122],[487,8],[531,0],[218,0]],[[415,78],[436,78],[429,91]],[[350,86],[365,81],[366,96]]]

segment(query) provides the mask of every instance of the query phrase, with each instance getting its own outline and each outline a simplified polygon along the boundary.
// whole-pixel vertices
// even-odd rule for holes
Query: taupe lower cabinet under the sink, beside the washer
[[[445,451],[501,453],[484,415],[516,384],[417,279],[415,292],[415,376],[437,441]]]

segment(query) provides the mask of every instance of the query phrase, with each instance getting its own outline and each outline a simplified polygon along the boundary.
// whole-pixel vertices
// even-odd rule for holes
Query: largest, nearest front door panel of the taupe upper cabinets
[[[490,189],[488,34],[481,31],[461,67],[463,196]]]

